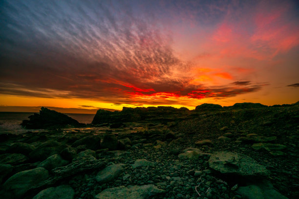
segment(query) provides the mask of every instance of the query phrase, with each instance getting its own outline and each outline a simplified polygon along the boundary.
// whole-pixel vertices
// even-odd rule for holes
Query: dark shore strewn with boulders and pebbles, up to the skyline
[[[299,198],[298,103],[98,111],[87,126],[106,130],[0,135],[0,198]]]

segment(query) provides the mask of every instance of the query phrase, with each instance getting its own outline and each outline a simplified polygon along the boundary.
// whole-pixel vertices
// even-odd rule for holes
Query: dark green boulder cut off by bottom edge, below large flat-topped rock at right
[[[237,189],[237,193],[240,194],[243,199],[287,199],[276,191],[273,185],[268,181],[241,186]]]

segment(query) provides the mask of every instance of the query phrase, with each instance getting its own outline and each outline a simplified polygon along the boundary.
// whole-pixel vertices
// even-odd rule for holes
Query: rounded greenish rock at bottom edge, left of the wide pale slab
[[[38,193],[33,199],[73,199],[75,191],[69,185],[50,187]]]

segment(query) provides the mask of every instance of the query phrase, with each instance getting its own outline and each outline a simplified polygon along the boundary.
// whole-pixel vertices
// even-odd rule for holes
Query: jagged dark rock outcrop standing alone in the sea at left
[[[35,113],[28,117],[30,120],[23,120],[21,125],[26,129],[55,129],[64,128],[66,125],[83,127],[85,124],[79,123],[67,115],[42,107],[40,114]]]

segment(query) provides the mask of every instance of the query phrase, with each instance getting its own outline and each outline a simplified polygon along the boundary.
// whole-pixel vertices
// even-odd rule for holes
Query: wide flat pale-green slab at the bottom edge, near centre
[[[95,199],[148,199],[150,196],[165,193],[152,184],[142,186],[119,186],[105,189]]]

